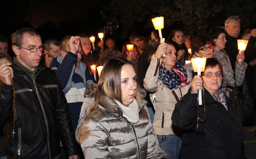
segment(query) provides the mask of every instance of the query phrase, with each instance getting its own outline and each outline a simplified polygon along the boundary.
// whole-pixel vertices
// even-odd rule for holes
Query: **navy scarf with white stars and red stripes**
[[[172,71],[160,66],[158,77],[159,80],[161,80],[162,74],[163,76],[161,82],[170,89],[182,88],[190,83],[190,77],[187,74],[186,69],[177,61],[175,62],[175,66],[172,67]]]

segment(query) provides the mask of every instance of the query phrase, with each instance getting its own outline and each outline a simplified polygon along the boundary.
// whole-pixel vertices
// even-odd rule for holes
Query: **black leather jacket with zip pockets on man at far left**
[[[17,120],[13,132],[13,90],[0,88],[0,124],[5,123],[5,147],[10,158],[54,158],[60,139],[68,156],[76,155],[75,136],[67,100],[54,71],[38,66],[33,80],[16,64],[14,72]]]

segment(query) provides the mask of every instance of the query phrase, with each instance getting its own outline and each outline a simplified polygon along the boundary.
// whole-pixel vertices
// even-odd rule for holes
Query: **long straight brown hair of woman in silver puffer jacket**
[[[115,99],[120,103],[124,104],[122,102],[121,71],[122,67],[126,64],[131,65],[137,75],[134,63],[126,59],[113,58],[105,63],[100,74],[100,78],[95,92],[95,101],[93,107],[91,108],[91,111],[97,108],[101,95],[109,97],[111,99]],[[135,98],[139,104],[139,107],[141,108],[140,89],[137,78],[136,82],[137,89]]]

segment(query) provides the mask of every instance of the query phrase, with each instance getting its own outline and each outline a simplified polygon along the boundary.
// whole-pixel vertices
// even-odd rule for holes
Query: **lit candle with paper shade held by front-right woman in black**
[[[205,57],[191,58],[191,62],[192,62],[194,72],[197,72],[197,75],[200,76],[201,72],[203,72],[205,69],[206,58]],[[202,90],[201,89],[199,89],[199,92],[198,92],[198,104],[202,105]]]

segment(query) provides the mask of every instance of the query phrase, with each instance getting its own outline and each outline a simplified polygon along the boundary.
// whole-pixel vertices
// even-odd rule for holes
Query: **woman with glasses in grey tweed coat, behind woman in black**
[[[196,57],[206,57],[206,58],[215,58],[218,61],[220,61],[215,55],[213,55],[213,48],[215,48],[215,45],[213,45],[211,38],[199,35],[193,37],[191,41],[191,52],[192,52],[192,58]],[[237,86],[241,86],[243,83],[244,75],[245,75],[245,69],[247,67],[247,64],[244,61],[244,51],[241,50],[240,53],[237,55],[237,62],[236,62],[236,82]],[[222,80],[222,86],[221,89],[224,93],[226,93],[226,87],[231,86],[234,87],[234,72],[232,70],[229,70],[225,67],[225,64],[221,62],[223,65],[223,80]],[[185,69],[190,75],[191,81],[194,77],[194,71],[192,67],[192,63],[188,63],[185,65]]]

